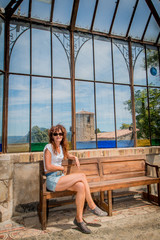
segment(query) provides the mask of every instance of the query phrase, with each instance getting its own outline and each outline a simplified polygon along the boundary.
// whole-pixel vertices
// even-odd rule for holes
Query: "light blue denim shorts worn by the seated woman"
[[[58,182],[58,180],[62,176],[64,176],[62,171],[56,171],[56,172],[47,173],[46,174],[46,177],[47,177],[47,181],[46,181],[47,189],[49,191],[55,192],[55,188],[56,188],[57,182]]]

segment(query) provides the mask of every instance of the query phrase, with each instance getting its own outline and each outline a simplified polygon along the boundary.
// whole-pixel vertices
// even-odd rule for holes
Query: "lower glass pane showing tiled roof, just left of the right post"
[[[115,86],[117,147],[133,147],[131,93],[129,86]]]

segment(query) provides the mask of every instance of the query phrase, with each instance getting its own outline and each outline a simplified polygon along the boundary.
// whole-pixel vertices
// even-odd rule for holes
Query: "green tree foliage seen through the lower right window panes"
[[[131,111],[131,100],[124,103],[128,110]],[[136,112],[136,127],[138,139],[149,139],[150,130],[152,138],[159,138],[160,136],[160,89],[149,89],[149,111],[147,101],[146,88],[142,91],[135,92],[135,112]],[[150,126],[149,126],[150,114]],[[122,126],[123,127],[123,126]]]

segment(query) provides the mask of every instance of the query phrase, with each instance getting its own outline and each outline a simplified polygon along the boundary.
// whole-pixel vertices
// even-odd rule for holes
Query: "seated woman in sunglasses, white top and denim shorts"
[[[107,213],[95,205],[85,174],[64,175],[63,159],[75,160],[78,168],[80,168],[80,163],[78,158],[67,150],[67,132],[62,125],[51,127],[49,130],[49,142],[44,148],[44,170],[47,176],[47,189],[50,191],[75,191],[77,212],[73,223],[83,233],[91,233],[83,221],[85,200],[88,203],[88,209],[92,213],[98,216],[107,216]]]

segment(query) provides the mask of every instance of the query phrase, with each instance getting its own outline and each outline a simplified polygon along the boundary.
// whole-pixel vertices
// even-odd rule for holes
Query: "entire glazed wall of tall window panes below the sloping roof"
[[[72,121],[76,123],[77,149],[132,147],[131,92],[138,146],[159,144],[156,47],[80,32],[74,33],[73,47],[67,29],[15,20],[10,24],[9,74],[5,76],[3,20],[0,40],[1,119],[3,88],[9,88],[8,152],[42,151],[48,129],[58,123],[66,127],[71,143]],[[4,76],[9,76],[5,86]],[[2,151],[2,120],[0,128]]]

